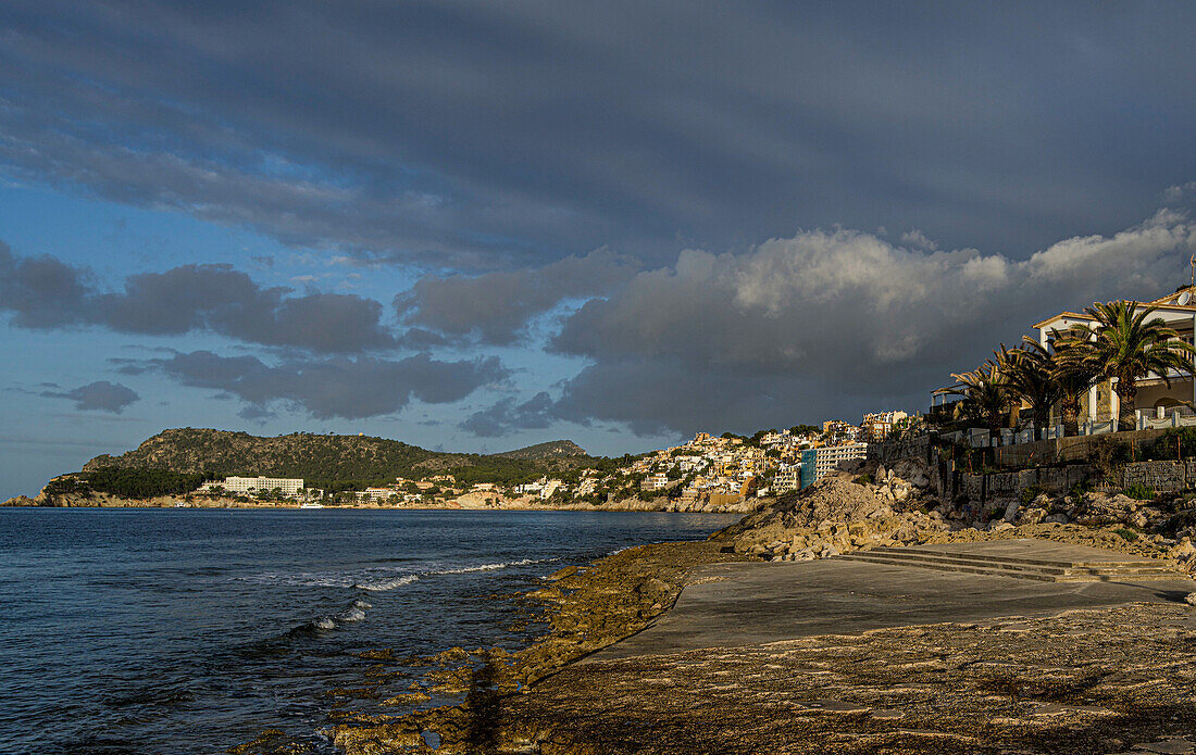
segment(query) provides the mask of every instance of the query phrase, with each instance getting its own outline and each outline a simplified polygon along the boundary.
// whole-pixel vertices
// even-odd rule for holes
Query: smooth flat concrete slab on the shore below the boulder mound
[[[1098,572],[1091,577],[1093,581],[1041,582],[927,569],[897,560],[840,558],[712,564],[694,575],[671,610],[637,634],[590,656],[587,662],[887,627],[1044,618],[1125,603],[1176,603],[1196,591],[1196,581],[1178,573],[1118,577],[1117,566],[1129,557],[1112,551],[1030,540],[953,544],[945,550],[970,553],[977,560],[990,558],[994,564],[1011,554],[1088,569],[1106,561],[1109,569],[1104,571],[1112,576],[1091,569]]]

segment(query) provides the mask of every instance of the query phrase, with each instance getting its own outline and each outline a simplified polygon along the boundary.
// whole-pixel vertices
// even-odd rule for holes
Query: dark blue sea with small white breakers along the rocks
[[[335,753],[332,690],[372,664],[353,653],[520,647],[542,627],[501,595],[736,518],[0,509],[0,753],[222,753],[264,729]]]

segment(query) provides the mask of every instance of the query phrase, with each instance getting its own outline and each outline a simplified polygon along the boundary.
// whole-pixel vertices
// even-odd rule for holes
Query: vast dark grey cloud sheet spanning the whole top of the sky
[[[797,227],[1023,258],[1190,180],[1189,4],[0,8],[0,159],[398,260]],[[649,259],[649,254],[654,258]]]

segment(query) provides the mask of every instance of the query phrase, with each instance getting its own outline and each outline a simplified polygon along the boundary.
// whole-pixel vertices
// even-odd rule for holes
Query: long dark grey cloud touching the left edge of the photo
[[[207,330],[249,343],[324,354],[389,348],[382,305],[347,294],[288,295],[230,265],[182,265],[129,276],[99,293],[90,275],[54,257],[16,257],[0,244],[0,311],[19,327],[99,325],[122,333],[179,336]]]

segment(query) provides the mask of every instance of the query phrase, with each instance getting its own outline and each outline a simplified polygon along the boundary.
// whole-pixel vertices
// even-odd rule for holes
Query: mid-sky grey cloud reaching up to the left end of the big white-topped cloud
[[[395,297],[401,318],[453,338],[517,340],[527,321],[565,299],[602,295],[635,275],[637,263],[608,250],[542,268],[476,276],[428,276]]]

